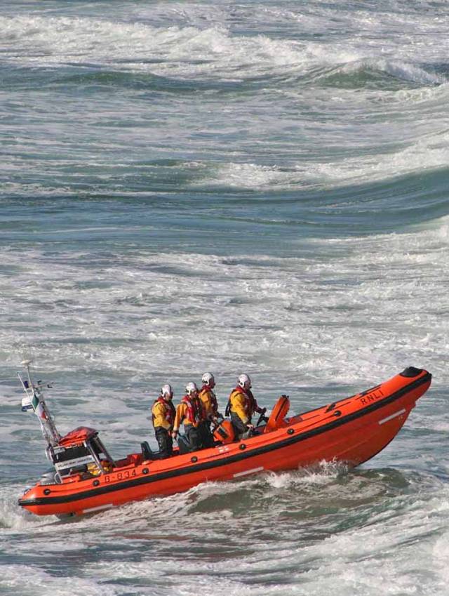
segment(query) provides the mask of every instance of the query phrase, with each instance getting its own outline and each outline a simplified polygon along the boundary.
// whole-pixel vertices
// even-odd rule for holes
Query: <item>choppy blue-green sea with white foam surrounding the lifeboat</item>
[[[3,0],[0,593],[449,594],[449,37],[442,1]],[[60,432],[241,372],[294,412],[429,370],[347,471],[205,483],[61,522],[15,377]]]

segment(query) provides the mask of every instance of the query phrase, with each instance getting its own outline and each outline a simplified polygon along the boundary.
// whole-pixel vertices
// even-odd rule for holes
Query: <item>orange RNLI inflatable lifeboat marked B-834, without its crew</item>
[[[253,437],[229,440],[227,424],[226,437],[215,433],[214,447],[167,459],[155,458],[144,443],[142,453],[113,461],[98,432],[81,427],[60,439],[54,448],[55,474],[27,490],[19,505],[36,515],[82,515],[186,491],[208,480],[295,470],[323,460],[354,467],[389,444],[430,384],[430,373],[410,367],[357,395],[291,418],[286,418],[288,397],[282,396]]]

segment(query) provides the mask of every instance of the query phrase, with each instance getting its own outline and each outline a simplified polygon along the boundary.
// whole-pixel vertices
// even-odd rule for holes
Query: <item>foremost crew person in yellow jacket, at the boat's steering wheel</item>
[[[258,406],[253,392],[251,392],[251,380],[248,375],[241,374],[239,383],[229,395],[229,402],[226,413],[231,413],[231,422],[239,439],[246,439],[253,435],[254,425],[252,418],[254,412],[264,413],[266,409]]]

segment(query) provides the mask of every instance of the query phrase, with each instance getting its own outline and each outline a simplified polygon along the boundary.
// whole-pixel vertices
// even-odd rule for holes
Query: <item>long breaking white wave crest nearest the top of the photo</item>
[[[303,76],[302,83],[326,81],[356,86],[360,76],[382,72],[413,84],[441,84],[443,74],[394,58],[377,58],[357,44],[276,39],[267,35],[236,35],[216,23],[205,29],[174,25],[155,27],[143,22],[43,16],[0,17],[9,47],[18,64],[72,66],[90,69],[84,76],[107,83],[116,72],[151,73],[168,79],[243,81],[255,77]],[[95,72],[109,69],[111,74]],[[318,74],[314,74],[317,69]],[[323,69],[324,72],[323,72]],[[76,76],[76,75],[74,75]],[[82,75],[81,75],[82,76]],[[344,77],[347,77],[346,83]],[[349,77],[349,78],[348,78]],[[354,78],[353,83],[349,81]],[[136,81],[136,85],[139,82]],[[140,83],[142,85],[142,82]],[[158,81],[147,81],[158,87]],[[168,85],[167,85],[168,86]]]

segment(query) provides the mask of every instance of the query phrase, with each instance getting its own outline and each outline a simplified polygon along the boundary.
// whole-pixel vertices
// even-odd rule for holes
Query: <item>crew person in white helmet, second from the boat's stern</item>
[[[196,451],[203,447],[199,426],[203,420],[206,420],[206,413],[203,409],[203,402],[199,399],[195,383],[187,383],[185,390],[186,395],[176,406],[172,437],[176,439],[180,432],[180,425],[184,423],[184,432],[189,442],[190,451]]]

